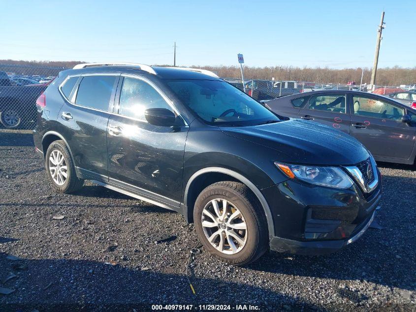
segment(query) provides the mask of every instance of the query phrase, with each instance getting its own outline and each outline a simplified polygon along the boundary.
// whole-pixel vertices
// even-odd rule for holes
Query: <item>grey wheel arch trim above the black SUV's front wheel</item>
[[[261,207],[263,207],[264,214],[266,215],[267,220],[267,228],[269,230],[269,238],[274,237],[274,226],[273,226],[273,217],[270,212],[269,204],[267,204],[266,199],[264,198],[263,194],[261,194],[260,190],[254,185],[248,178],[246,178],[244,175],[241,175],[240,173],[236,173],[235,171],[221,168],[221,167],[207,167],[201,170],[198,170],[197,172],[193,173],[192,176],[189,178],[186,188],[185,188],[185,194],[184,194],[184,206],[188,207],[188,191],[192,184],[192,181],[198,177],[201,174],[204,173],[224,173],[227,175],[230,175],[237,180],[241,181],[242,183],[246,184],[248,188],[251,189],[251,191],[256,195],[257,199],[260,201]],[[189,209],[189,208],[188,208]]]

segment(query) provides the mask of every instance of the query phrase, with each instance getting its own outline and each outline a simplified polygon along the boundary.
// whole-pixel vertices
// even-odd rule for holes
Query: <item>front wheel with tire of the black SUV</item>
[[[218,213],[215,212],[215,202]],[[263,208],[243,183],[222,181],[206,187],[195,201],[193,221],[204,247],[226,263],[247,265],[256,261],[269,247]],[[235,235],[239,240],[235,239]]]

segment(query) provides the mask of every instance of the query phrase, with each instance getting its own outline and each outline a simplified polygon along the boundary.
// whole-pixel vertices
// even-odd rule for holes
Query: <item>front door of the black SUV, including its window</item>
[[[145,109],[167,108],[174,112],[169,100],[144,77],[125,75],[122,79],[115,113],[108,122],[110,182],[179,207],[189,127],[178,114],[177,127],[149,124]]]

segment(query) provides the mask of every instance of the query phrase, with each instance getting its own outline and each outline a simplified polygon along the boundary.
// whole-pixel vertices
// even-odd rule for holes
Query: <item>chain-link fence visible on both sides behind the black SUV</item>
[[[36,122],[36,99],[64,69],[0,64],[0,128],[32,130]],[[257,101],[318,90],[356,90],[386,95],[412,88],[259,79],[245,79],[243,84],[239,78],[224,80]]]

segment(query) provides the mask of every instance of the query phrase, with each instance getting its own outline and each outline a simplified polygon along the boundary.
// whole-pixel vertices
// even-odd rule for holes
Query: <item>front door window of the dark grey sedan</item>
[[[397,121],[401,121],[404,115],[403,108],[376,99],[352,97],[352,103],[354,115]]]

